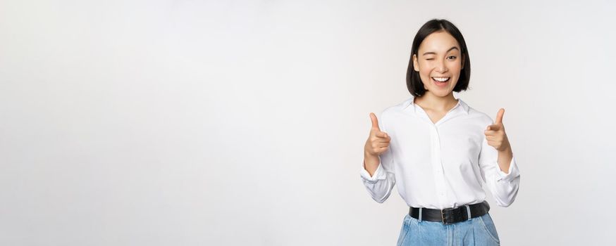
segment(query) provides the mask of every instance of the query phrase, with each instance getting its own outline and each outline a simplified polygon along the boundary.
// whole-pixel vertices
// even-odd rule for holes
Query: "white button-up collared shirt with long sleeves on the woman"
[[[488,145],[483,131],[491,117],[470,108],[460,98],[436,124],[414,97],[381,112],[378,126],[390,138],[386,152],[370,176],[361,179],[372,199],[384,202],[393,186],[407,205],[445,209],[483,202],[483,183],[496,205],[508,207],[519,188],[519,171],[512,158],[507,173],[498,167],[498,150]]]

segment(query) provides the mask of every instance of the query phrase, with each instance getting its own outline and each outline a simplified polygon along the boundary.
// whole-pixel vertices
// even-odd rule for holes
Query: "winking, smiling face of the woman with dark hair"
[[[433,32],[421,42],[417,55],[413,55],[413,66],[426,93],[436,96],[452,93],[464,68],[461,55],[460,44],[445,31]]]

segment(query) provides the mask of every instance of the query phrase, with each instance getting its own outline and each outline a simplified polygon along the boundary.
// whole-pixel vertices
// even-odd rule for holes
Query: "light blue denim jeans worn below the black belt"
[[[402,245],[500,245],[500,239],[490,214],[448,225],[407,214],[398,237],[398,246]]]

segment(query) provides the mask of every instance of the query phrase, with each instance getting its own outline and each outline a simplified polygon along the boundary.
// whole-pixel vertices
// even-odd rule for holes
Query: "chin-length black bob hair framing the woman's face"
[[[421,78],[419,77],[419,72],[416,72],[413,65],[413,55],[417,55],[419,53],[419,45],[421,44],[428,35],[433,32],[438,32],[444,30],[448,32],[457,40],[457,43],[460,44],[460,52],[462,53],[462,65],[464,68],[460,71],[460,78],[455,84],[453,91],[460,92],[466,91],[469,86],[469,79],[471,77],[471,60],[469,58],[469,51],[467,49],[467,43],[464,41],[464,37],[462,37],[462,32],[449,22],[448,20],[443,19],[433,19],[429,20],[419,28],[415,38],[413,39],[413,46],[411,48],[411,58],[409,61],[409,68],[407,70],[407,88],[409,92],[413,96],[423,96],[426,93],[426,89],[424,88],[424,84],[421,82]],[[419,55],[417,56],[419,60]]]

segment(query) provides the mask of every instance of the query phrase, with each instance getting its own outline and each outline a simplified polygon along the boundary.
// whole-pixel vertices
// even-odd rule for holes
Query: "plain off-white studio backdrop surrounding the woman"
[[[0,1],[0,245],[394,245],[369,112],[412,38],[464,34],[456,94],[521,171],[503,245],[615,245],[608,1]]]

